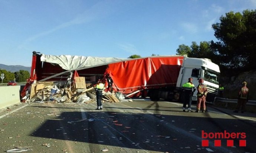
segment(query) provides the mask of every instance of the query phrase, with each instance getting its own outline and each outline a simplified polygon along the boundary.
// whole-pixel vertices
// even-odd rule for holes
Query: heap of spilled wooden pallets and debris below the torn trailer
[[[85,77],[79,77],[75,71],[71,72],[66,81],[36,81],[27,87],[23,102],[77,102],[86,103],[96,100],[95,78],[86,81]],[[94,84],[93,84],[94,83]],[[103,91],[103,102],[119,102],[124,100],[122,93]]]

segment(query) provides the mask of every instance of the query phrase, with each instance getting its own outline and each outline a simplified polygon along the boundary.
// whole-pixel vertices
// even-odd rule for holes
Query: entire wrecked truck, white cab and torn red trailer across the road
[[[186,61],[189,63],[187,66],[184,65]],[[149,96],[151,100],[180,100],[180,86],[187,81],[187,77],[203,78],[206,72],[212,75],[211,81],[208,81],[209,93],[213,95],[210,97],[214,97],[219,88],[219,67],[206,59],[185,56],[119,59],[53,56],[33,52],[31,76],[22,96],[33,80],[65,81],[74,70],[86,81],[91,81],[92,76],[101,76],[105,81],[106,76],[110,76],[113,91],[129,97]]]

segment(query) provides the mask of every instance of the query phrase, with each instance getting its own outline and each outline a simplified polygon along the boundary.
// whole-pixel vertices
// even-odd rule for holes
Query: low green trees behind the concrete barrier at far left
[[[10,80],[15,80],[16,82],[26,82],[30,77],[29,72],[26,70],[20,70],[18,72],[12,73],[10,71],[0,69],[0,74],[2,73],[4,74],[3,83],[8,83]]]

